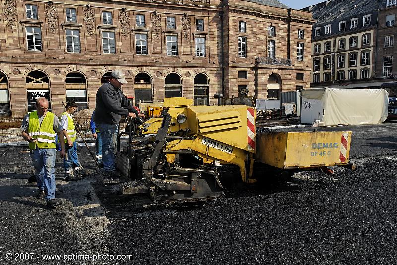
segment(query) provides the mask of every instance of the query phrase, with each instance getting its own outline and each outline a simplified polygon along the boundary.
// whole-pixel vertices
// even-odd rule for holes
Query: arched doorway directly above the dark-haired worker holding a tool
[[[79,72],[71,72],[65,78],[66,102],[75,101],[77,110],[88,108],[87,84],[85,76]]]

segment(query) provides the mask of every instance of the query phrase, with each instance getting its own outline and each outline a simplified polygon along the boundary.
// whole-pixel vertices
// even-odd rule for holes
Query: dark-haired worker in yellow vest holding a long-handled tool
[[[64,169],[66,180],[80,180],[87,174],[83,170],[82,165],[78,162],[76,129],[74,127],[73,118],[71,117],[77,111],[77,103],[69,101],[66,104],[66,111],[62,113],[60,128],[64,134],[66,154],[64,157]],[[60,138],[62,139],[62,138]],[[74,173],[73,173],[74,164]]]

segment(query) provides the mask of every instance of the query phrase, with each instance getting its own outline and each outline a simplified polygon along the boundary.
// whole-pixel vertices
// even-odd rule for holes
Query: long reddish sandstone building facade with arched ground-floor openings
[[[39,96],[56,114],[71,99],[94,108],[115,69],[137,102],[276,98],[310,84],[311,13],[275,0],[1,0],[0,17],[2,112],[33,110]]]

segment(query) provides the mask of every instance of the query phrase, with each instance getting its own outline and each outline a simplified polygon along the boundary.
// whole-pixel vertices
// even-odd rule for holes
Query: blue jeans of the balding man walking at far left
[[[30,150],[37,187],[47,190],[46,200],[55,199],[55,148],[36,148]]]

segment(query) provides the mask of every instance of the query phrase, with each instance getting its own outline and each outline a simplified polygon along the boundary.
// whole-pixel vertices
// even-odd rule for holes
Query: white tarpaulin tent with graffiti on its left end
[[[384,89],[306,89],[301,97],[302,123],[378,124],[388,117],[389,93]]]

